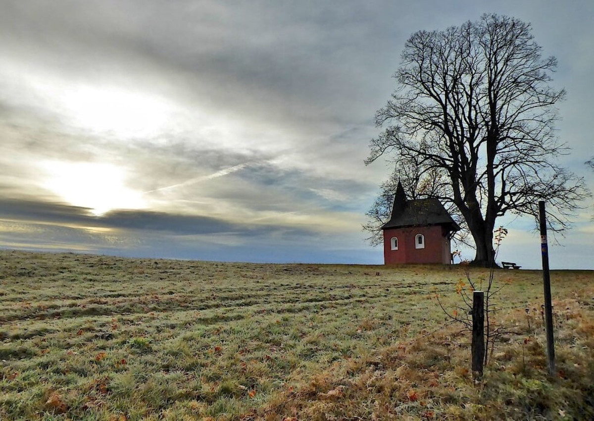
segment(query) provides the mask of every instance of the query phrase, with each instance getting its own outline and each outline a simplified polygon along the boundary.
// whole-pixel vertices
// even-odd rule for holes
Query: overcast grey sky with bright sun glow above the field
[[[533,24],[565,87],[564,164],[594,187],[594,2],[0,0],[0,246],[382,263],[363,164],[407,37]],[[552,268],[594,269],[592,202]],[[500,258],[540,265],[533,221]],[[463,250],[472,258],[471,250]]]

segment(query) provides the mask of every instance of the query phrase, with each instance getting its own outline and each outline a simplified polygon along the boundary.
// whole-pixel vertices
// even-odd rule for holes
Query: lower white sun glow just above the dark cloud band
[[[97,216],[112,209],[142,209],[143,193],[126,185],[123,168],[99,162],[46,161],[43,187],[69,205],[89,208]]]

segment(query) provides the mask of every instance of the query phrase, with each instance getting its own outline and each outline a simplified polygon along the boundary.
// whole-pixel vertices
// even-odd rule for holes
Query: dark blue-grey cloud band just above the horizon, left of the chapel
[[[332,235],[285,226],[131,210],[95,217],[89,209],[22,200],[0,200],[0,215],[0,247],[253,262],[377,260],[371,250],[361,252],[352,234],[337,243]]]

